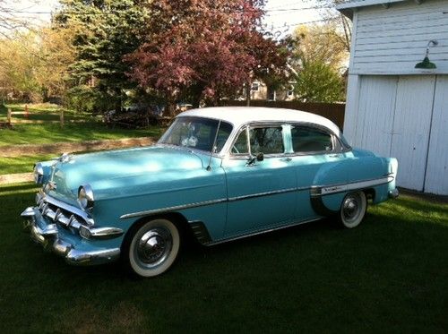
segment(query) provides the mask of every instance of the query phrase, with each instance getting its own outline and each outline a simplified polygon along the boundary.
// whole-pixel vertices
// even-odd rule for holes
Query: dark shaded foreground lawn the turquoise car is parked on
[[[0,330],[446,332],[448,205],[401,196],[353,230],[329,220],[210,248],[165,275],[71,267],[20,233],[33,184],[0,187]]]

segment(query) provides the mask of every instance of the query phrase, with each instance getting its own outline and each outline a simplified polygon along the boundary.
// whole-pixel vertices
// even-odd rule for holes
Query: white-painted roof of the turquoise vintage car
[[[177,117],[197,116],[222,120],[233,124],[234,127],[251,122],[288,122],[311,123],[329,128],[333,133],[340,135],[340,128],[328,118],[295,109],[276,107],[202,107],[187,110]]]

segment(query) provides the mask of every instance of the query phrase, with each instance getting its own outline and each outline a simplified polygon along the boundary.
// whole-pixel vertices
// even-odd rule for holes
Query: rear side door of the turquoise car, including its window
[[[345,159],[345,154],[336,136],[328,129],[314,124],[291,124],[291,166],[297,176],[297,221],[320,217],[315,203],[311,202],[311,187],[321,173],[323,165],[336,166]],[[326,169],[329,170],[329,169]],[[337,183],[337,180],[334,180]]]

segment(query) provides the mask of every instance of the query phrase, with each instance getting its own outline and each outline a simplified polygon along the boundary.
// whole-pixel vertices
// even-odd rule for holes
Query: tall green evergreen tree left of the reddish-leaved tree
[[[73,31],[73,86],[80,85],[82,91],[90,86],[93,96],[101,95],[120,109],[125,90],[135,86],[125,74],[130,67],[123,56],[142,44],[142,31],[148,29],[146,10],[139,0],[61,0],[61,4],[55,22]]]

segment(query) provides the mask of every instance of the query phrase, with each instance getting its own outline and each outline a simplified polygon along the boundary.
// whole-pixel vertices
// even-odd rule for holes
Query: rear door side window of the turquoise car
[[[326,131],[306,125],[291,128],[292,148],[294,152],[328,152],[333,150],[332,135]]]

